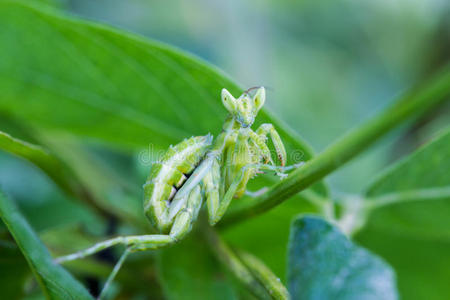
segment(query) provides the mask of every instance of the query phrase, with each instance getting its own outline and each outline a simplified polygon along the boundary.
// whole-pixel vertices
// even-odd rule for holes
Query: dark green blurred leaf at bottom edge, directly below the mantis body
[[[169,300],[237,299],[220,264],[195,233],[159,251],[158,270]]]

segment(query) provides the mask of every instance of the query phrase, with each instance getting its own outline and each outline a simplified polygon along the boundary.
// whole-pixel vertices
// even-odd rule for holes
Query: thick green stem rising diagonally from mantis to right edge
[[[411,117],[421,115],[447,99],[450,94],[450,66],[426,84],[411,90],[391,107],[343,138],[274,185],[251,205],[224,216],[223,224],[242,221],[264,213],[324,178],[367,149],[380,137]]]

